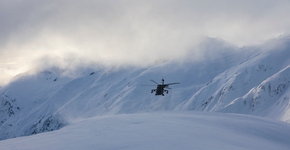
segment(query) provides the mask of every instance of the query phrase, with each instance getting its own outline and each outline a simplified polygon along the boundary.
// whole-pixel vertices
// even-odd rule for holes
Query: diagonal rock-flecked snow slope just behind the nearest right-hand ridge
[[[255,49],[251,48],[255,53],[252,53],[239,65],[216,76],[192,98],[181,103],[177,110],[216,111],[224,108],[232,103],[232,100],[243,97],[253,87],[287,67],[290,64],[289,47],[288,40],[266,43]],[[284,82],[287,83],[287,81]],[[268,107],[265,110],[268,111]],[[251,113],[249,112],[249,114]]]

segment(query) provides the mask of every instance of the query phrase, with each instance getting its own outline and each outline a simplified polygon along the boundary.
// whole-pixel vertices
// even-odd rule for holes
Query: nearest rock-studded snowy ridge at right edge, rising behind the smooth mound
[[[230,110],[231,113],[251,114],[289,122],[290,98],[289,88],[287,88],[290,83],[289,67],[267,78],[244,97],[235,99],[219,112]]]

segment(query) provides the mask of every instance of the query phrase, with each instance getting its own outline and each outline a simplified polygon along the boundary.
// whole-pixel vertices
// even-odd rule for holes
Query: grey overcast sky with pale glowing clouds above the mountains
[[[289,8],[289,0],[0,0],[0,71],[141,63],[188,49],[199,34],[257,45],[290,31]]]

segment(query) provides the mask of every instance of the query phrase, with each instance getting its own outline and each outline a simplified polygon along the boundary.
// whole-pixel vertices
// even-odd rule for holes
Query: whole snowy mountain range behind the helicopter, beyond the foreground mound
[[[28,71],[1,87],[0,140],[58,130],[80,118],[148,111],[216,111],[290,122],[289,56],[287,33],[243,48],[205,37],[182,60],[147,67],[100,65],[74,76],[58,67]],[[165,96],[150,93],[155,86],[140,86],[163,77],[165,84],[181,84],[170,85]]]

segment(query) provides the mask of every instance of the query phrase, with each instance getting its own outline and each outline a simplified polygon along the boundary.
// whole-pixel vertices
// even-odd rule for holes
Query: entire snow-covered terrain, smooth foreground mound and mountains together
[[[289,38],[239,48],[206,37],[182,59],[160,59],[147,67],[84,66],[78,75],[59,67],[24,72],[0,87],[0,146],[284,149],[290,143],[285,135],[290,122],[289,56]],[[156,85],[149,80],[160,83],[163,77],[164,84],[181,84],[170,85],[165,96],[151,93],[156,86],[140,86]],[[35,147],[26,144],[33,141]]]

